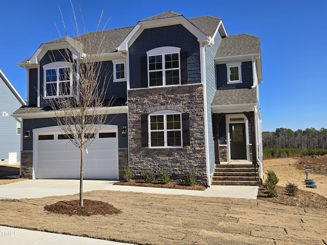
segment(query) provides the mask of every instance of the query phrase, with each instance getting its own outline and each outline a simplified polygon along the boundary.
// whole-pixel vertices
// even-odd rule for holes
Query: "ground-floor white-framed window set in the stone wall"
[[[174,111],[157,112],[149,115],[150,146],[182,146],[181,113]]]

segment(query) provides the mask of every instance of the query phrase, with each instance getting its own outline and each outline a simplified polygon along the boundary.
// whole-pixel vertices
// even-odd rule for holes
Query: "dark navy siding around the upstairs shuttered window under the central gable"
[[[130,88],[141,88],[141,57],[156,47],[180,47],[188,53],[188,83],[200,83],[200,53],[197,38],[181,24],[144,30],[129,48]]]

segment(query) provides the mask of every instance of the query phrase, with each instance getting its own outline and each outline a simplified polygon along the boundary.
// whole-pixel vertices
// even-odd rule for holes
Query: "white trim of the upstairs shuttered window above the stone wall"
[[[168,54],[176,54],[178,53],[178,72],[179,72],[179,83],[173,85],[166,85],[166,70],[177,70],[176,68],[173,69],[166,69],[165,68],[165,55]],[[154,71],[162,71],[162,85],[161,86],[150,86],[150,69],[149,69],[149,56],[162,56],[162,69],[160,70],[151,70]],[[173,46],[165,46],[165,47],[156,47],[152,50],[147,52],[147,67],[148,67],[148,87],[155,88],[155,87],[166,87],[166,86],[178,86],[180,85],[180,47],[173,47]]]

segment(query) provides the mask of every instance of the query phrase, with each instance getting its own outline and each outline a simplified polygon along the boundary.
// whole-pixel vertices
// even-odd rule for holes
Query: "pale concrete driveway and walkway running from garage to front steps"
[[[0,185],[0,200],[22,199],[22,198],[43,198],[54,195],[71,195],[79,193],[79,180],[26,180],[6,185]],[[116,181],[108,180],[84,180],[83,191],[91,190],[112,190],[112,191],[133,191],[156,194],[173,195],[197,195],[202,197],[223,197],[223,198],[245,198],[256,199],[258,186],[230,186],[216,185],[200,190],[181,190],[152,188],[139,186],[113,185]]]

